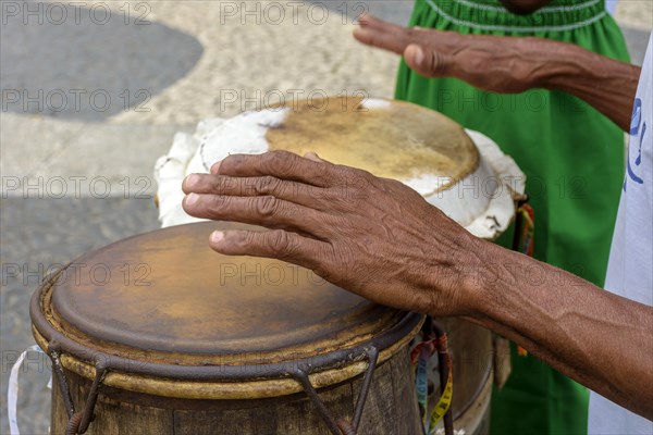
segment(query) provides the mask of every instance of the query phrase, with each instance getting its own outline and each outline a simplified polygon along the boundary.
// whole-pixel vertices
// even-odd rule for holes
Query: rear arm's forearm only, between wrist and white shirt
[[[546,70],[543,87],[569,92],[614,121],[630,128],[632,101],[641,69],[578,46],[552,42],[542,46],[541,62]]]

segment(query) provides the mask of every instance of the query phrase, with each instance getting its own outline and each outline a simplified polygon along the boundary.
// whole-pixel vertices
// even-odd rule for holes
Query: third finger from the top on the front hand
[[[311,235],[323,226],[325,217],[316,210],[272,196],[230,197],[189,194],[182,201],[182,207],[186,213],[196,217],[285,228]]]

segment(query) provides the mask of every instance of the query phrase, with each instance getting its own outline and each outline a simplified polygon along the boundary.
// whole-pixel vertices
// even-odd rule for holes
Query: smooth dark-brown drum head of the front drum
[[[181,225],[83,256],[78,273],[69,266],[54,283],[49,322],[109,355],[204,365],[313,357],[403,316],[309,270],[218,254],[208,247],[217,226],[236,225]]]

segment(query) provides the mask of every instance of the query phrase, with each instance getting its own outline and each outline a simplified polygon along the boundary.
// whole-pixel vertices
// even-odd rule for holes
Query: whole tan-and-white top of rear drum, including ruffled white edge
[[[515,216],[513,197],[526,178],[492,140],[416,104],[333,97],[288,102],[229,120],[202,121],[178,133],[159,159],[159,217],[163,226],[196,222],[182,209],[183,178],[207,173],[233,153],[317,151],[333,163],[397,179],[466,227],[494,239]]]

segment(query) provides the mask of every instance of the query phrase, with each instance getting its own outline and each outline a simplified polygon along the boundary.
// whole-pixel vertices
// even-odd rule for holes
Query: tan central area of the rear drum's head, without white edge
[[[382,99],[330,97],[293,102],[266,135],[271,150],[360,167],[399,181],[440,177],[424,196],[470,174],[479,153],[463,127],[432,110]]]

